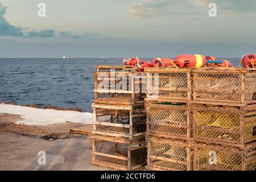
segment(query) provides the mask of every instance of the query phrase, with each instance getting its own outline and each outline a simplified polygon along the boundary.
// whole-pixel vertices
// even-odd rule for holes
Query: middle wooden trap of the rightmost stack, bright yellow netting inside
[[[256,140],[256,104],[247,107],[193,105],[193,139],[244,148]]]

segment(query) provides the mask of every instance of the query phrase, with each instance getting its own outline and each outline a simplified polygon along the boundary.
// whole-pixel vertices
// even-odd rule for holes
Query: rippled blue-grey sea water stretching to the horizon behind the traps
[[[226,60],[237,66],[240,58]],[[91,111],[93,72],[100,64],[121,65],[122,59],[0,58],[0,98],[18,105],[77,107]]]

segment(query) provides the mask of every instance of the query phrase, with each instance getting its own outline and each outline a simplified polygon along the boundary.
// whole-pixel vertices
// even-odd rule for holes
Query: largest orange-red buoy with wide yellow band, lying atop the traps
[[[179,55],[174,60],[174,64],[179,68],[201,68],[207,63],[203,55]]]

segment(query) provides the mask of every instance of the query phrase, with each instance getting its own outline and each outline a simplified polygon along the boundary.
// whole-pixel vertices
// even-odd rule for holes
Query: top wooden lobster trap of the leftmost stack
[[[146,97],[146,76],[132,72],[96,72],[94,102],[135,104]]]

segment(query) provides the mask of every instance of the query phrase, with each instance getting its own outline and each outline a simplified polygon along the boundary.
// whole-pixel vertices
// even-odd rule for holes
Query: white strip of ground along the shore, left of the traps
[[[63,111],[53,109],[36,109],[32,107],[0,104],[0,113],[22,115],[22,121],[15,124],[23,125],[49,125],[64,122],[76,122],[82,124],[92,124],[92,113],[80,113],[77,111]]]

